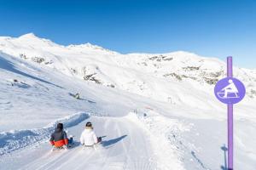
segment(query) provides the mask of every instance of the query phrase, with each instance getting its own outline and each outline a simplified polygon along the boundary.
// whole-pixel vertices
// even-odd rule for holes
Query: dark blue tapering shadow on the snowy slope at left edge
[[[38,80],[40,82],[45,82],[47,84],[50,84],[50,85],[53,85],[55,87],[61,88],[60,86],[55,85],[52,82],[47,82],[47,81],[45,81],[41,78],[33,77],[32,75],[26,74],[25,72],[22,72],[22,71],[19,71],[19,70],[15,69],[15,65],[11,61],[9,61],[7,59],[4,59],[2,56],[0,56],[0,69],[6,70],[6,71],[11,71],[11,72],[14,72],[16,74],[20,74],[21,76],[29,77],[29,78],[32,78],[34,80]]]

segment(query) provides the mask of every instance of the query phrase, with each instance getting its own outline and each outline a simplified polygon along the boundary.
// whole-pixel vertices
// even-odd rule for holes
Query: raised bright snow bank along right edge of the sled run
[[[196,156],[197,149],[189,141],[183,141],[183,132],[189,132],[191,125],[161,116],[155,111],[134,111],[128,119],[148,130],[154,155],[159,157],[158,169],[211,170]]]

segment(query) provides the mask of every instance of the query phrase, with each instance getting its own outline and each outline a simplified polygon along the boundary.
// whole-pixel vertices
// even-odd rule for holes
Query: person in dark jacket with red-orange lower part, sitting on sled
[[[50,135],[49,143],[57,149],[67,149],[67,144],[73,143],[73,137],[67,138],[67,133],[63,130],[63,124],[58,123],[55,132]]]

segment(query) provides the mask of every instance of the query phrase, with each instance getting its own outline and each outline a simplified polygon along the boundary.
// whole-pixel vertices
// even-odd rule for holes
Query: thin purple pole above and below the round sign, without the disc
[[[232,57],[227,58],[227,77],[233,77]],[[233,104],[228,104],[228,169],[233,170]]]

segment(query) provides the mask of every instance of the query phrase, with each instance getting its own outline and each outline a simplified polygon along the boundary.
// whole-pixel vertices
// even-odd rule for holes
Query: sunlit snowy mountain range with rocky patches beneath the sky
[[[119,54],[90,43],[65,47],[32,33],[18,38],[1,37],[0,50],[28,62],[46,65],[69,77],[78,77],[172,104],[187,104],[190,98],[198,105],[200,101],[198,103],[194,99],[195,95],[189,93],[190,89],[196,89],[212,98],[213,85],[225,77],[226,72],[223,61],[187,52]],[[256,72],[236,68],[235,77],[245,82],[247,96],[255,99]],[[181,84],[182,94],[187,94],[186,99],[180,96],[181,89],[177,88]]]

